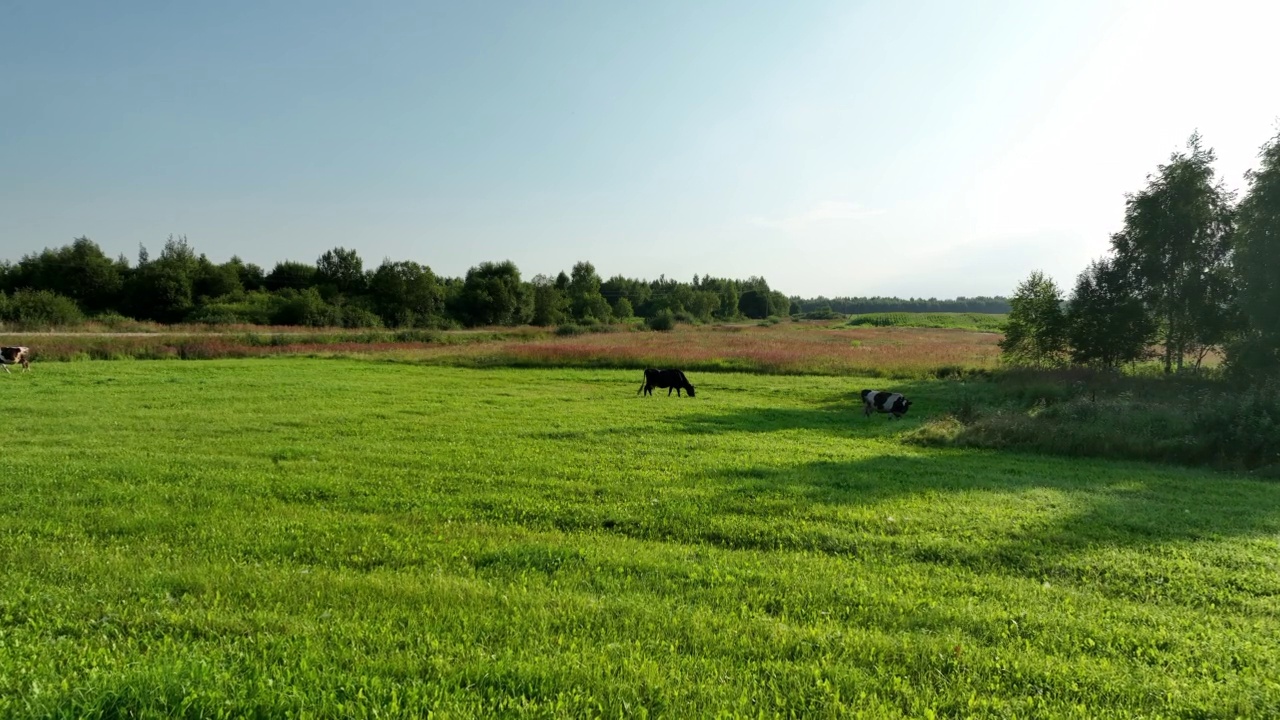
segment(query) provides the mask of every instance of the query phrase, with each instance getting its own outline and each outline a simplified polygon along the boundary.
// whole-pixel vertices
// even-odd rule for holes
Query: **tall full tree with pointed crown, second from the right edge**
[[[1137,283],[1160,324],[1165,372],[1188,352],[1221,342],[1230,325],[1231,193],[1213,178],[1213,150],[1192,135],[1129,196],[1124,229],[1111,237],[1116,264]]]

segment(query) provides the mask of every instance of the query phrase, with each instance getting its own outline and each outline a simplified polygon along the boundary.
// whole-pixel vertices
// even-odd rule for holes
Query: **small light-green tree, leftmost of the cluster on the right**
[[[1010,305],[1000,341],[1005,360],[1037,368],[1060,364],[1066,350],[1066,316],[1057,284],[1036,270],[1018,286]]]

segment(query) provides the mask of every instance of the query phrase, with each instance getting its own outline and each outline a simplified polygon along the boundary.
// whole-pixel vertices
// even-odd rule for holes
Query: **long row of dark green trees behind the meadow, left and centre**
[[[0,320],[23,327],[90,318],[157,323],[451,328],[594,324],[643,318],[676,322],[787,315],[790,300],[762,277],[694,275],[691,282],[616,275],[590,263],[556,277],[522,279],[515,263],[481,263],[465,277],[438,275],[412,260],[366,269],[355,250],[334,247],[315,263],[285,260],[270,272],[239,258],[214,263],[186,237],[136,264],[106,256],[79,237],[19,261],[0,261]]]

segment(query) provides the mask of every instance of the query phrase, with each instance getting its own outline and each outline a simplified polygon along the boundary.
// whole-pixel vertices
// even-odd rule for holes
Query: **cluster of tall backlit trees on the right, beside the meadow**
[[[1069,297],[1042,272],[1018,286],[1005,357],[1116,368],[1156,356],[1175,373],[1220,351],[1233,370],[1280,370],[1280,135],[1258,158],[1236,201],[1215,176],[1213,150],[1192,135],[1126,196],[1110,252]]]

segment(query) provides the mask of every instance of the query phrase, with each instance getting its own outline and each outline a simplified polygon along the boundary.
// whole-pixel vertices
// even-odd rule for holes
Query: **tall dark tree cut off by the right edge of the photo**
[[[1238,307],[1245,323],[1228,347],[1228,364],[1251,373],[1280,373],[1280,135],[1258,154],[1258,169],[1236,209],[1234,272]]]

